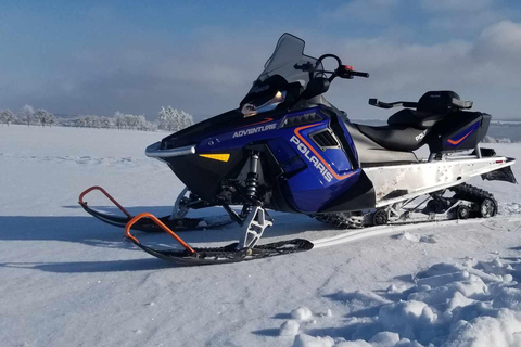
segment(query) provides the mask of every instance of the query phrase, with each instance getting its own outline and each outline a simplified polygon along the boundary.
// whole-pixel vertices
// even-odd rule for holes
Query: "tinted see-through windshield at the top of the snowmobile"
[[[258,80],[264,81],[268,77],[279,75],[288,83],[298,81],[305,88],[309,81],[309,68],[315,67],[317,59],[305,55],[304,46],[304,40],[288,33],[283,34],[277,42],[274,54],[264,65]],[[321,66],[319,68],[322,69]]]

